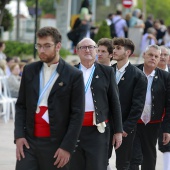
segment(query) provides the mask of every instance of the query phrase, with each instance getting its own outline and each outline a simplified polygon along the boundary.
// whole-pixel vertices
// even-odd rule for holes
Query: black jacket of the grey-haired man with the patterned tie
[[[143,66],[140,64],[137,67],[143,70]],[[170,73],[159,68],[156,68],[155,71],[151,86],[151,121],[161,120],[165,110],[162,128],[164,133],[170,133]]]

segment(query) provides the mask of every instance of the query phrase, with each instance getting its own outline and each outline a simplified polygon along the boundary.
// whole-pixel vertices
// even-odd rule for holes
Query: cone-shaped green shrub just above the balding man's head
[[[99,27],[98,33],[95,35],[94,40],[97,43],[101,38],[111,38],[110,28],[106,21],[103,21]]]

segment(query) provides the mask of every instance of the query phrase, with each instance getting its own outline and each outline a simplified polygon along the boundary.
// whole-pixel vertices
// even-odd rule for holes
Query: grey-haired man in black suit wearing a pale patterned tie
[[[137,124],[130,170],[139,170],[139,165],[141,170],[155,170],[156,143],[164,111],[163,143],[170,141],[170,74],[157,68],[160,55],[160,47],[150,45],[143,56],[144,64],[137,66],[146,75],[148,86],[144,110]]]

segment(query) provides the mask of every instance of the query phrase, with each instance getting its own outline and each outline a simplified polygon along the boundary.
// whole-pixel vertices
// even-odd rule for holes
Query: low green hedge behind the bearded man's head
[[[6,41],[5,45],[6,45],[6,48],[5,48],[4,53],[8,57],[18,56],[21,59],[26,59],[28,56],[34,55],[33,44],[17,42],[17,41]],[[64,48],[61,48],[60,55],[62,58],[66,58],[66,56],[70,54],[71,54],[70,51]]]

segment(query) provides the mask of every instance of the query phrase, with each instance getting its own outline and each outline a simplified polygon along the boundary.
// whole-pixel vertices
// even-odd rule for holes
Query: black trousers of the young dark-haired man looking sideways
[[[135,133],[136,129],[129,133],[127,137],[123,137],[122,145],[115,150],[117,170],[129,169]]]

